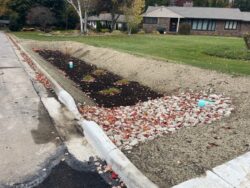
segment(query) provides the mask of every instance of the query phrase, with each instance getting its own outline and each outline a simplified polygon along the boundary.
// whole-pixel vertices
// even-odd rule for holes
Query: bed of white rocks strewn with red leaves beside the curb
[[[200,99],[212,101],[212,104],[201,108],[198,106]],[[182,127],[210,124],[229,117],[233,110],[229,97],[193,92],[164,96],[134,106],[80,107],[84,118],[97,122],[119,148],[126,150]]]

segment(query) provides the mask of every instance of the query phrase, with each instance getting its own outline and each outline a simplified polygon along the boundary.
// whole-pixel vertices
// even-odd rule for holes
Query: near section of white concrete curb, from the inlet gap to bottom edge
[[[98,154],[100,154],[108,164],[112,165],[113,170],[119,174],[127,187],[157,187],[129,161],[95,122],[82,120],[80,125],[90,144],[95,146]]]

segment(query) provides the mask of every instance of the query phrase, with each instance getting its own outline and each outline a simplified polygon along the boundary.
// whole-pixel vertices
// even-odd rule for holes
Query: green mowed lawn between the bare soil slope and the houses
[[[42,41],[77,41],[113,48],[144,57],[153,57],[230,74],[250,75],[250,61],[208,55],[207,51],[245,49],[242,38],[180,35],[46,36],[38,32],[17,32],[17,37]],[[240,55],[240,53],[239,53]]]

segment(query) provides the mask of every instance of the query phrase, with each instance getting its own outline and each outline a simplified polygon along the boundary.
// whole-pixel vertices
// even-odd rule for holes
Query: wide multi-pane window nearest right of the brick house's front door
[[[194,19],[192,20],[192,30],[214,31],[216,27],[215,20]]]

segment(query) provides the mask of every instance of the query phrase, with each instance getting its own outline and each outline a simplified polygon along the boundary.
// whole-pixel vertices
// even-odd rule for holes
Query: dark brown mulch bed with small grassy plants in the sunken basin
[[[96,66],[87,64],[82,60],[63,54],[60,51],[38,50],[40,56],[45,60],[65,72],[65,76],[73,80],[83,92],[87,93],[95,102],[104,107],[130,106],[140,101],[147,101],[161,97],[150,88],[140,85],[138,82],[128,82],[117,85],[116,82],[123,78],[105,70],[105,74],[95,74],[98,69]],[[69,62],[74,63],[74,68],[69,68]],[[94,81],[85,81],[83,78],[93,77]],[[118,94],[105,95],[101,90],[116,88]]]

